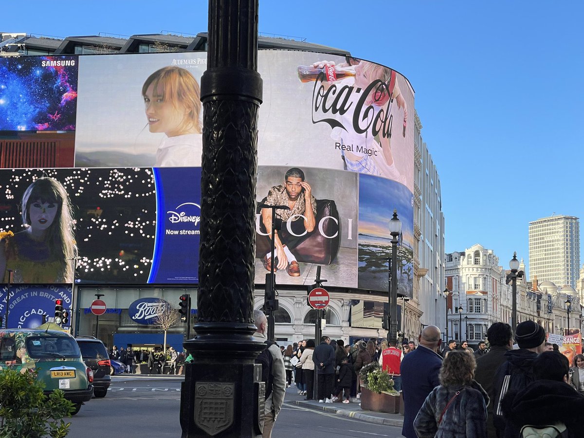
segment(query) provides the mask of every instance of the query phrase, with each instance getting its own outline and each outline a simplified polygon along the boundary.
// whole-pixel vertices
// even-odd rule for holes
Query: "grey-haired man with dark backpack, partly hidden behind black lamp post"
[[[257,328],[256,332],[253,333],[253,337],[266,344],[266,348],[258,355],[255,363],[262,364],[262,380],[266,384],[262,437],[270,438],[278,413],[284,404],[286,370],[284,369],[284,359],[280,353],[280,347],[269,342],[266,338],[267,318],[262,311],[253,311],[253,324]]]

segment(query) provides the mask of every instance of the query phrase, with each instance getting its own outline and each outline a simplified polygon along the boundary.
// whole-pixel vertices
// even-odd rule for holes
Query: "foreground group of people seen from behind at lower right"
[[[496,322],[472,350],[423,329],[401,362],[406,438],[584,436],[584,355],[573,362],[534,321]]]

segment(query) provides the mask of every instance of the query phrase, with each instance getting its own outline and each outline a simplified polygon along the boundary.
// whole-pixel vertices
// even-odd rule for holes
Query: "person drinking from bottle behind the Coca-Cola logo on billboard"
[[[334,67],[334,61],[319,61],[312,64],[314,68]],[[354,68],[354,77],[347,77],[336,81],[340,88],[343,85],[353,86],[353,92],[346,97],[347,102],[345,107],[350,105],[350,110],[344,114],[339,114],[339,121],[345,130],[335,127],[332,130],[331,137],[339,141],[345,147],[342,148],[342,157],[345,162],[345,170],[360,173],[369,173],[370,175],[385,176],[395,181],[405,184],[406,178],[399,173],[394,163],[394,157],[391,151],[390,138],[378,134],[379,141],[376,140],[376,135],[373,134],[373,121],[376,120],[377,115],[381,110],[384,114],[391,111],[392,102],[396,102],[398,109],[404,112],[404,130],[405,123],[408,119],[408,108],[399,90],[397,84],[397,74],[394,70],[383,65],[374,64],[374,62],[361,61],[356,58],[349,58],[346,64],[340,67],[347,67],[347,69]],[[357,102],[361,99],[360,91],[365,90],[374,81],[381,81],[385,85],[377,86],[371,90],[369,96],[365,100],[367,109],[361,115],[363,120],[360,120],[363,126],[369,126],[363,133],[355,130],[354,123],[354,109],[359,107]],[[322,85],[328,89],[332,84],[331,81],[324,81]],[[390,99],[391,95],[391,99]],[[361,117],[360,116],[360,117]],[[394,127],[395,132],[401,131]],[[404,131],[405,133],[405,131]],[[401,133],[400,133],[401,134]]]

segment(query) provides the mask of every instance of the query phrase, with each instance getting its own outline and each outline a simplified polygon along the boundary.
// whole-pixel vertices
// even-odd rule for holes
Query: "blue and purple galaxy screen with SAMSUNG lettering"
[[[0,58],[0,130],[75,130],[76,56]]]

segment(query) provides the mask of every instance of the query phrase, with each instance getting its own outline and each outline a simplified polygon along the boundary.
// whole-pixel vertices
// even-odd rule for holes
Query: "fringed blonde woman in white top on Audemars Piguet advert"
[[[156,152],[155,166],[201,165],[200,96],[197,80],[180,67],[161,68],[142,85],[148,129],[166,134]]]

